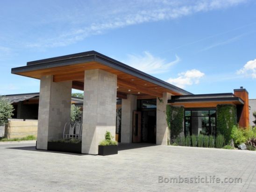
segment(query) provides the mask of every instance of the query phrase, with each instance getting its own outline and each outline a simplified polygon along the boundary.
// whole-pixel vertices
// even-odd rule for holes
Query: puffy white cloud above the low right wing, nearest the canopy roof
[[[178,78],[169,78],[166,82],[185,88],[187,85],[199,84],[200,78],[205,74],[197,69],[188,70],[178,74]]]

